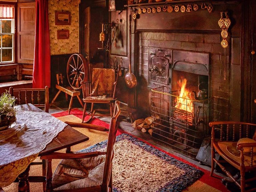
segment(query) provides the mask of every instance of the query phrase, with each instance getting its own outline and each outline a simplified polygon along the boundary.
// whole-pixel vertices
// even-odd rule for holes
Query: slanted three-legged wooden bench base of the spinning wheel
[[[69,103],[69,107],[68,107],[68,114],[70,114],[70,111],[71,111],[71,107],[72,107],[72,104],[73,104],[73,98],[76,96],[79,103],[81,104],[82,107],[84,107],[84,104],[81,100],[81,98],[79,97],[80,96],[80,90],[75,90],[73,89],[72,87],[70,86],[64,86],[64,85],[59,85],[60,84],[60,81],[61,81],[61,84],[63,84],[63,76],[62,74],[56,74],[56,77],[57,77],[57,84],[56,84],[56,89],[58,89],[58,93],[54,96],[50,106],[54,103],[54,101],[57,99],[57,97],[59,96],[59,94],[61,92],[64,92],[65,95],[66,95],[66,100],[68,100],[68,95],[71,96],[71,99],[70,99],[70,103]]]

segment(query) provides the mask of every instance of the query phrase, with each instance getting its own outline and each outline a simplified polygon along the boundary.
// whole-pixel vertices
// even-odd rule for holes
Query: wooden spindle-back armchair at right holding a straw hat
[[[210,122],[209,126],[212,127],[211,176],[216,163],[231,178],[231,181],[241,189],[241,192],[255,191],[256,177],[250,177],[248,173],[250,172],[252,175],[252,172],[255,173],[256,170],[256,124],[216,121]],[[217,160],[215,158],[216,153],[224,160]],[[234,177],[228,171],[226,164],[223,163],[228,163],[239,170],[240,178]],[[250,186],[253,182],[254,187]]]

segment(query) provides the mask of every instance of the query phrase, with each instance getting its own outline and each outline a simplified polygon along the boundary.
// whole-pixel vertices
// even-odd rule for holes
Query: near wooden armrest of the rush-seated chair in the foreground
[[[49,155],[41,156],[40,159],[82,159],[89,157],[96,157],[99,155],[106,155],[106,152],[89,152],[89,153],[59,153],[53,152]]]

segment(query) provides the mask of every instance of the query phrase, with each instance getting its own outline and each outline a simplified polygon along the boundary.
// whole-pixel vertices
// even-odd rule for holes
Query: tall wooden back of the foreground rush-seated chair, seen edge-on
[[[118,116],[120,115],[120,112],[121,112],[119,103],[120,103],[119,101],[115,102],[113,117],[111,117],[111,120],[110,120],[107,152],[106,152],[106,159],[105,159],[105,165],[104,165],[104,171],[103,171],[103,181],[102,181],[103,188],[109,186],[110,179],[112,177],[112,160],[114,158],[113,146],[116,141]],[[106,190],[103,190],[103,191],[107,191],[107,188]]]

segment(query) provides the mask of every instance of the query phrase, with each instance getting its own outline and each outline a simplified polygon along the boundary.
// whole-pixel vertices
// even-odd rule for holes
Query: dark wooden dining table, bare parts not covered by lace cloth
[[[17,110],[22,111],[32,111],[32,112],[43,112],[41,109],[37,108],[32,104],[24,104],[16,106]],[[89,137],[80,133],[79,131],[73,129],[69,125],[67,125],[63,131],[61,131],[57,137],[55,137],[47,146],[39,152],[39,157],[43,155],[48,155],[52,152],[65,149],[66,152],[71,152],[71,146],[85,142],[89,140]],[[33,164],[32,162],[31,164]],[[39,164],[39,163],[34,163]],[[30,165],[27,169],[18,176],[16,182],[19,182],[18,191],[19,192],[29,192],[29,182],[43,182],[43,189],[45,191],[45,179],[46,179],[46,160],[42,160],[42,176],[29,176]]]

